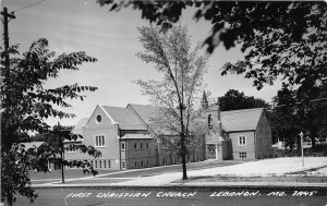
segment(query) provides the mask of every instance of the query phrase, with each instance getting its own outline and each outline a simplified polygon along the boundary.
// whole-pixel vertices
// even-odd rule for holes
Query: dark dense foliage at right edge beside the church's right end
[[[316,100],[307,104],[301,102],[296,90],[283,88],[278,92],[274,101],[276,107],[269,112],[269,119],[275,138],[286,143],[292,150],[295,145],[300,148],[300,132],[312,140],[313,147],[316,138],[326,140],[327,104],[326,86],[320,87]],[[315,148],[314,148],[315,149]]]

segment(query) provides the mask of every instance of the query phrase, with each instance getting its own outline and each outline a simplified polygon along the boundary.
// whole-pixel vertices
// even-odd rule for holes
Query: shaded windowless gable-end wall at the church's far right
[[[266,116],[263,113],[255,132],[256,136],[256,158],[269,158],[272,157],[272,140],[271,140],[271,128]]]

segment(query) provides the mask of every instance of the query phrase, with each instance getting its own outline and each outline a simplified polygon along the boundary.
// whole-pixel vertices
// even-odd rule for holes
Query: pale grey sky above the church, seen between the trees
[[[37,3],[38,2],[38,3]],[[36,3],[34,5],[31,5]],[[31,7],[28,7],[31,5]],[[149,26],[142,20],[141,11],[131,8],[109,12],[109,7],[100,7],[96,0],[1,0],[1,7],[15,11],[15,19],[9,23],[10,44],[20,44],[23,53],[34,40],[47,38],[49,49],[57,54],[85,51],[98,59],[95,63],[83,64],[78,71],[62,71],[56,80],[49,80],[45,87],[53,88],[66,84],[96,86],[94,93],[85,93],[84,101],[69,101],[75,113],[74,119],[49,119],[50,125],[58,121],[63,125],[74,125],[81,118],[88,118],[97,105],[126,107],[128,104],[148,105],[147,96],[134,80],[153,80],[158,72],[136,57],[142,51],[137,27]],[[181,24],[186,25],[192,45],[203,41],[210,34],[207,21],[193,20],[194,10],[183,10]],[[205,49],[203,49],[205,52]],[[211,98],[223,96],[229,89],[244,92],[246,96],[270,102],[280,85],[265,86],[257,90],[253,80],[242,75],[221,76],[220,68],[226,62],[234,63],[243,59],[240,46],[226,50],[221,45],[208,60],[208,72],[204,85]]]

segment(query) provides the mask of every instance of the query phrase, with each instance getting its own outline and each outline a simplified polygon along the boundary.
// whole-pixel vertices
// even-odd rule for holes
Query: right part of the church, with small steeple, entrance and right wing
[[[271,128],[263,108],[220,111],[219,102],[209,106],[203,94],[202,108],[208,126],[215,130],[206,136],[206,158],[253,160],[274,155]]]

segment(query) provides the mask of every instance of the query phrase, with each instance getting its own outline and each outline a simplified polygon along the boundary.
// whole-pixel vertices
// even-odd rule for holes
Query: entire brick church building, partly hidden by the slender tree
[[[216,158],[259,159],[272,156],[271,130],[262,108],[220,112],[219,106],[208,107],[203,99],[203,114],[208,126],[218,125],[205,142],[198,144],[187,156],[187,161]],[[134,169],[181,162],[165,143],[174,138],[171,133],[157,138],[152,133],[152,118],[159,108],[129,104],[125,108],[97,106],[89,118],[82,119],[73,133],[83,138],[65,141],[70,150],[66,160],[86,159],[96,169]],[[74,145],[92,145],[100,150],[100,158],[93,158],[74,149]]]

